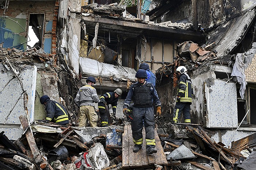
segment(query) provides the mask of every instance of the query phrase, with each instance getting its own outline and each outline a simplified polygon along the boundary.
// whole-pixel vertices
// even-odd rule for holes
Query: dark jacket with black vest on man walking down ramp
[[[130,106],[131,100],[134,102],[133,107],[151,107],[153,106],[153,102],[156,107],[161,106],[155,86],[148,82],[143,86],[140,85],[139,82],[132,84],[127,97],[124,100],[124,108],[128,108]]]

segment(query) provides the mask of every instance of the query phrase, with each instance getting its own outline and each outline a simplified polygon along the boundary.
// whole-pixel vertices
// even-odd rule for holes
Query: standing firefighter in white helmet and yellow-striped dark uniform
[[[173,110],[173,122],[179,122],[181,112],[183,112],[184,122],[191,123],[190,119],[190,105],[192,104],[193,88],[191,78],[187,74],[187,68],[179,66],[176,69],[178,82],[178,93],[176,98],[176,105]]]

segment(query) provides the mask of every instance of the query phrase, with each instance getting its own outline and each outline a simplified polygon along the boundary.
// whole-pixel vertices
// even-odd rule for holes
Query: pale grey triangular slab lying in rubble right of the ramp
[[[177,159],[189,159],[189,158],[196,158],[196,157],[186,146],[181,145],[166,157],[167,160],[170,160],[171,158],[174,160],[177,160]]]

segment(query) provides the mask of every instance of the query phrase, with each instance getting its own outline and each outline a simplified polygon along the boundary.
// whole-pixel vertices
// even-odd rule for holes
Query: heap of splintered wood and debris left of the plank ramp
[[[41,120],[28,125],[25,116],[20,116],[20,121],[24,134],[17,141],[11,142],[4,135],[4,131],[0,133],[1,168],[98,170],[121,166],[118,165],[121,162],[118,146],[121,145],[121,136],[116,129],[111,134],[86,141],[76,133],[80,131],[76,127],[64,127]]]

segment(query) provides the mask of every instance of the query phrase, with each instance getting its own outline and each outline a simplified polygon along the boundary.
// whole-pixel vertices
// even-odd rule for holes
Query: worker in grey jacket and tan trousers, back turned
[[[79,107],[79,127],[84,127],[87,119],[89,119],[91,127],[97,127],[98,115],[95,112],[93,102],[98,103],[100,100],[96,89],[93,87],[96,80],[94,77],[88,77],[86,83],[85,86],[79,88],[75,98],[75,103]]]

